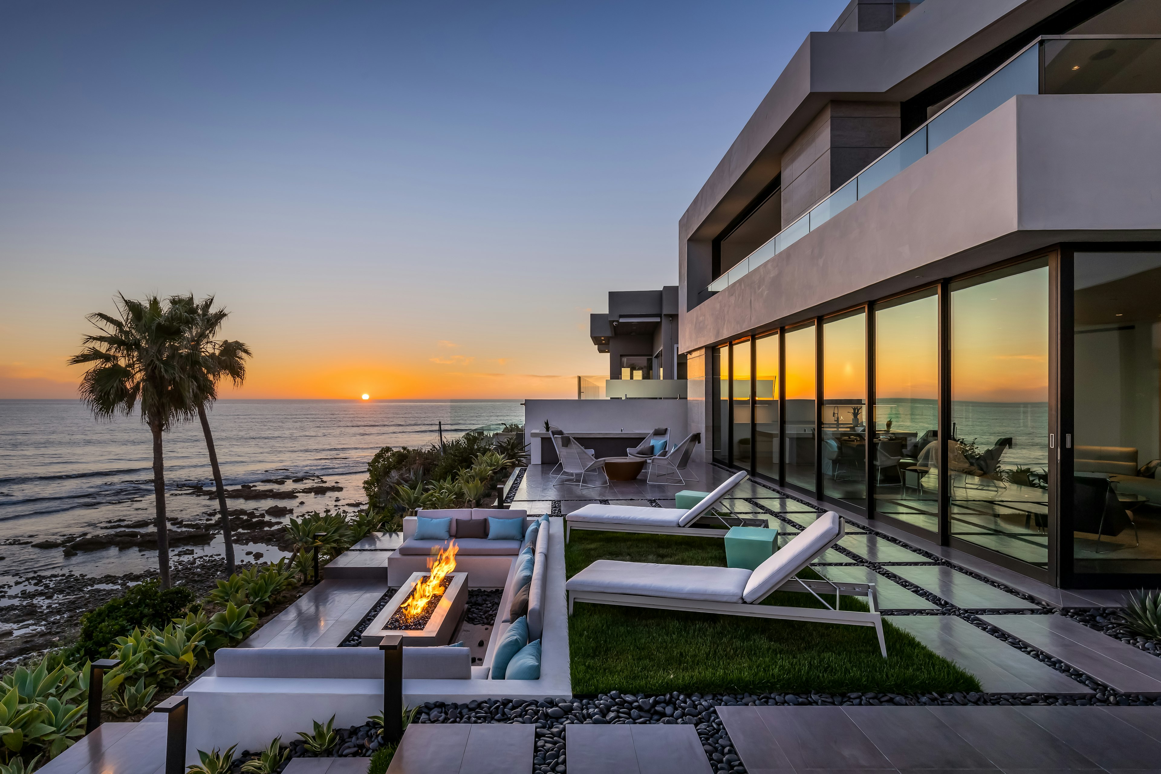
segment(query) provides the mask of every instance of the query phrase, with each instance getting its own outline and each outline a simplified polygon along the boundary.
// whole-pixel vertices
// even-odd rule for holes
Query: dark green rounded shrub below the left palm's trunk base
[[[117,637],[138,627],[164,627],[193,601],[188,588],[161,588],[157,580],[146,580],[82,615],[74,651],[88,660],[106,658]]]

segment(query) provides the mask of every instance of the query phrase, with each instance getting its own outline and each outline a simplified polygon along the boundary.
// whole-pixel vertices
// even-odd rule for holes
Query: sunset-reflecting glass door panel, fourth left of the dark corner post
[[[786,483],[814,491],[815,326],[786,331],[786,412],[783,460]]]

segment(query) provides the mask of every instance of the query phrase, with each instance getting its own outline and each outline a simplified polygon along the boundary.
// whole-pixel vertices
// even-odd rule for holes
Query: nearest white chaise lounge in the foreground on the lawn
[[[834,511],[828,511],[752,572],[740,567],[598,559],[564,584],[569,596],[569,615],[576,602],[590,602],[872,627],[879,637],[879,650],[887,658],[887,641],[882,635],[882,616],[875,606],[874,584],[835,584],[795,577],[842,540],[843,534],[843,519]],[[814,567],[815,572],[820,570],[821,567]],[[776,591],[809,593],[825,607],[817,609],[760,603]],[[819,595],[820,591],[834,591],[834,607]],[[838,609],[839,596],[843,594],[866,596],[871,612]]]

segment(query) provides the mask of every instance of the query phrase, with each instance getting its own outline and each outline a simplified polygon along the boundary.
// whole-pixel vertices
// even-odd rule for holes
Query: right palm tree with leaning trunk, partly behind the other
[[[205,435],[205,449],[210,455],[210,469],[214,471],[214,485],[217,487],[218,509],[222,512],[222,540],[225,544],[226,576],[235,572],[233,535],[230,531],[230,509],[225,504],[225,487],[222,485],[222,469],[217,462],[217,450],[214,448],[214,434],[210,432],[210,420],[205,415],[205,406],[217,400],[217,383],[230,378],[235,386],[241,386],[246,379],[246,357],[250,348],[240,341],[215,341],[214,335],[222,327],[230,312],[224,309],[214,310],[214,296],[194,301],[189,296],[174,296],[170,299],[172,306],[181,308],[187,314],[186,337],[182,345],[183,371],[188,381],[190,399],[197,408],[197,419]]]

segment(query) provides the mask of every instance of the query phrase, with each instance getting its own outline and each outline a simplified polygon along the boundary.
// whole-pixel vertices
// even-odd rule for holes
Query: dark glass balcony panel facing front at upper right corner
[[[1161,41],[1045,41],[1044,93],[1161,93]]]

